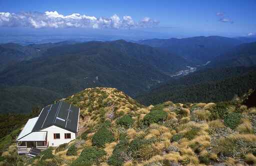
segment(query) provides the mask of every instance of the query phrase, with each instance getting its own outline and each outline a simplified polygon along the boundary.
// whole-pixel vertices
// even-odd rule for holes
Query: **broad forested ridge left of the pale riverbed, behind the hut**
[[[28,105],[26,109],[29,112],[29,105],[45,104],[45,101],[51,99],[48,97],[50,95],[59,98],[95,86],[117,87],[134,96],[168,80],[168,73],[174,73],[188,64],[184,58],[175,54],[124,40],[35,44],[24,46],[25,48],[18,44],[2,46],[14,52],[23,52],[19,56],[24,59],[7,65],[0,71],[3,92],[6,88],[10,92],[5,94],[6,99],[0,101],[3,106],[0,108],[1,112],[24,112],[22,105],[25,104]],[[40,50],[40,53],[25,54],[28,48],[37,52]],[[13,54],[8,56],[16,58],[12,57]],[[26,86],[27,95],[15,95],[16,86]],[[33,98],[39,88],[45,91]],[[17,105],[16,101],[20,101],[20,104]]]

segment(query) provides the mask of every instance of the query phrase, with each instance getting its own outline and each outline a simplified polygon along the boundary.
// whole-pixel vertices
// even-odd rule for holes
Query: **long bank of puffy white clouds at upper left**
[[[33,28],[43,27],[82,27],[82,28],[132,28],[153,27],[159,22],[149,17],[144,17],[135,22],[131,16],[125,15],[122,19],[114,14],[111,17],[87,16],[79,13],[62,15],[57,11],[42,12],[0,12],[0,26],[26,26]]]

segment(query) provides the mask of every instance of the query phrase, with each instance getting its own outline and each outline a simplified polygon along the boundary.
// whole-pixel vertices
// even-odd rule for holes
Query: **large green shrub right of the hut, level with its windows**
[[[105,122],[92,136],[92,145],[103,147],[105,143],[114,141],[112,132],[108,129],[110,124]]]

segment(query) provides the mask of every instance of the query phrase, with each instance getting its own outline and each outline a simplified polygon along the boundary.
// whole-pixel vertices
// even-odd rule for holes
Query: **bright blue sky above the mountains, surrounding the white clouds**
[[[108,20],[107,18],[116,14],[120,19],[117,22],[119,24],[114,24],[116,22],[110,23],[111,25],[94,22],[88,26],[82,24],[76,29],[77,33],[89,32],[91,29],[99,33],[111,31],[109,34],[143,31],[145,36],[152,32],[154,37],[165,35],[166,38],[196,35],[254,35],[256,32],[255,7],[256,0],[0,0],[0,12],[18,14],[35,11],[44,14],[45,11],[57,11],[64,16],[79,13],[94,16],[97,20],[100,17]],[[132,18],[132,26],[128,25],[127,21],[123,23],[123,16]],[[38,18],[38,20],[35,18],[39,22],[40,19],[45,18]],[[56,28],[48,24],[36,23],[36,25],[29,23],[23,25],[20,22],[5,22],[0,25],[8,26],[4,27],[6,33],[22,30],[43,32],[46,28],[54,34],[65,31],[67,28],[62,24]],[[72,28],[73,26],[72,24]]]

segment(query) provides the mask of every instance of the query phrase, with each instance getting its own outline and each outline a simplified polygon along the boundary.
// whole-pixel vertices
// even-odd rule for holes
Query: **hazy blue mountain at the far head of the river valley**
[[[234,46],[248,42],[248,40],[245,40],[245,38],[222,36],[196,36],[188,38],[146,39],[136,42],[165,49],[173,54],[184,57],[194,64],[203,64],[214,59],[216,56],[222,55]]]

